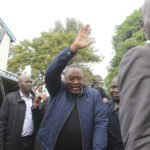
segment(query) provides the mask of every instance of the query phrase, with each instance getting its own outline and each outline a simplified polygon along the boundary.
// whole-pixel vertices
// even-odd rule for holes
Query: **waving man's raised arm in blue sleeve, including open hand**
[[[71,47],[67,47],[61,51],[50,63],[46,71],[45,82],[51,96],[59,91],[61,87],[61,74],[74,54],[78,50],[88,47],[93,42],[92,40],[88,40],[90,32],[90,25],[83,26]]]

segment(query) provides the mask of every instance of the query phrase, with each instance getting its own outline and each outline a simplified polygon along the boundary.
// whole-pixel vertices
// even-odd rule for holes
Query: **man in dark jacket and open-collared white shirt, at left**
[[[33,150],[32,79],[21,76],[18,81],[20,89],[4,98],[0,110],[0,150]]]

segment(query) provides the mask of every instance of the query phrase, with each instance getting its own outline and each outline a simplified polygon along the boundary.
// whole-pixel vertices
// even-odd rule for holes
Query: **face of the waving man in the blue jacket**
[[[83,71],[79,67],[68,68],[65,76],[68,90],[73,94],[80,94],[84,85]]]

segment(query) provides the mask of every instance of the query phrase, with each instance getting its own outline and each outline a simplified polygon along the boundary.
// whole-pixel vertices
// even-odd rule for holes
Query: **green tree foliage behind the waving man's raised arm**
[[[48,64],[60,51],[72,44],[81,26],[82,24],[74,18],[67,19],[65,27],[58,20],[50,32],[42,32],[40,37],[32,41],[21,41],[11,48],[7,70],[20,75],[26,66],[30,66],[35,84],[40,83],[44,80]],[[70,64],[76,62],[86,65],[101,61],[101,58],[94,54],[95,51],[92,46],[79,51]],[[90,73],[87,74],[89,75]]]

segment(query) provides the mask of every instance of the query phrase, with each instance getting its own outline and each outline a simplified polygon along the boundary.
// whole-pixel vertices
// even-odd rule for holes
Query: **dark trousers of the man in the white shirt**
[[[20,150],[34,150],[34,136],[22,137]]]

